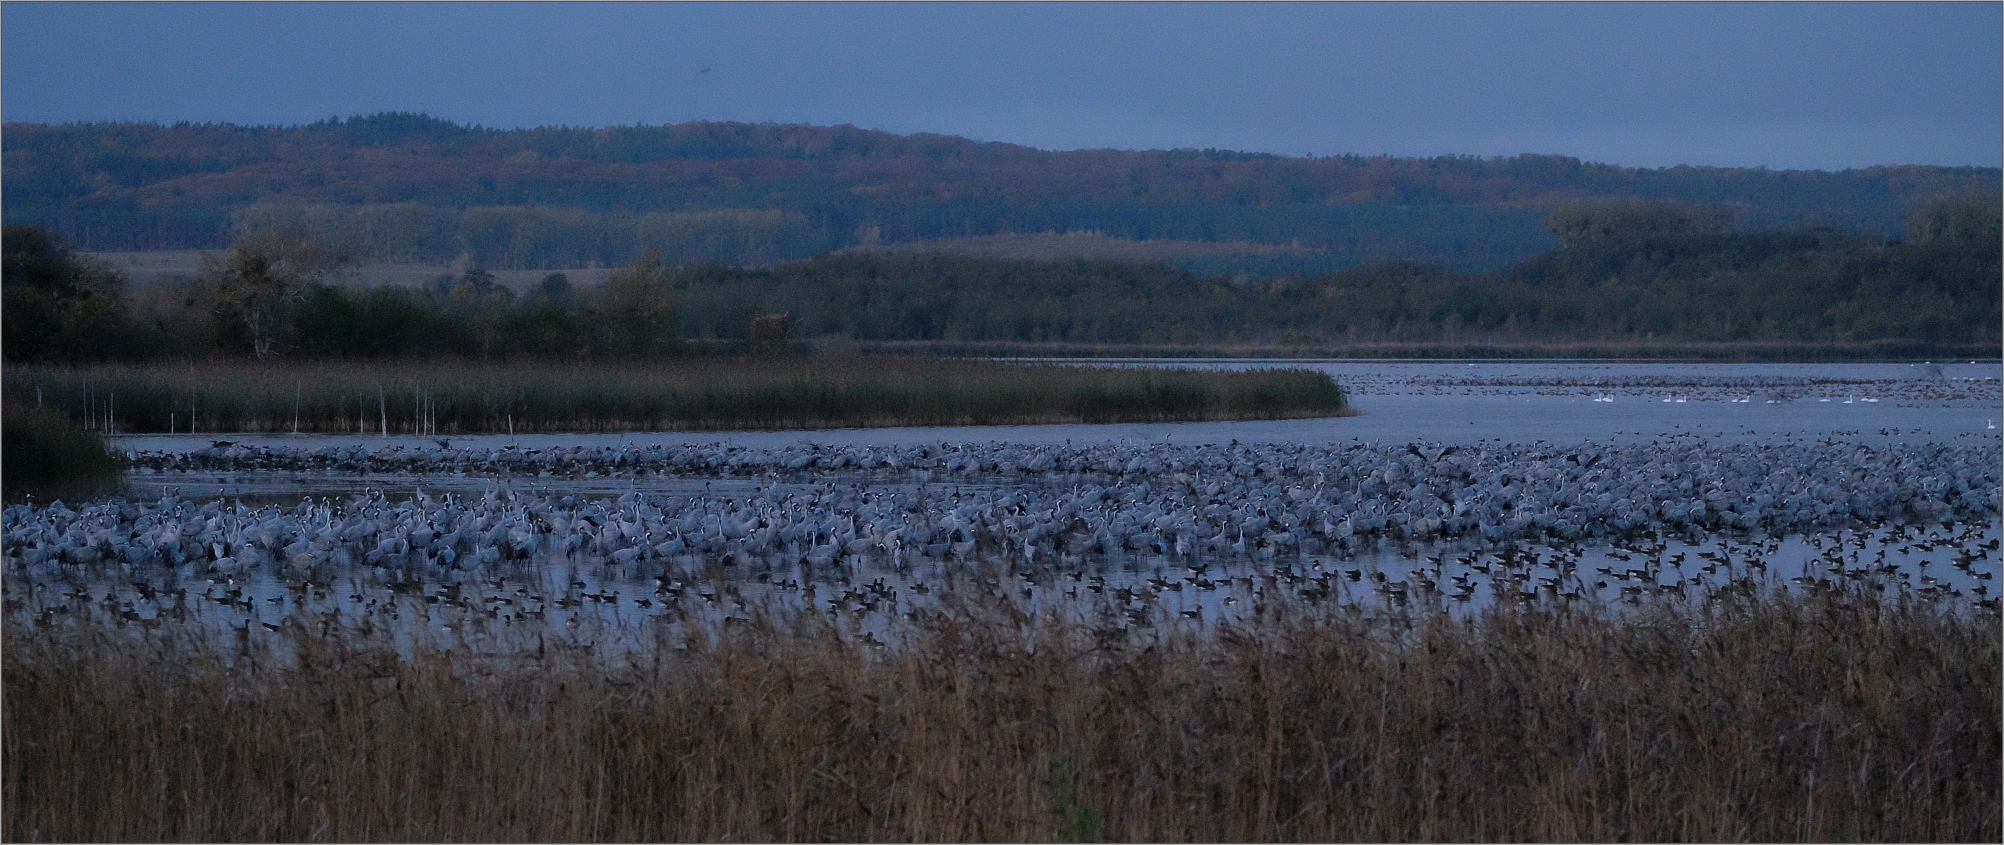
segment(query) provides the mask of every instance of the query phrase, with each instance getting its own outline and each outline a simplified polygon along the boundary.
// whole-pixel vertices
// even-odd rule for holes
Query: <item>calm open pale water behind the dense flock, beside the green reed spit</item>
[[[834,431],[447,435],[455,447],[605,445],[936,445],[936,443],[1635,443],[1697,435],[1717,443],[1942,443],[1998,437],[2004,364],[1599,364],[1599,362],[1130,362],[1132,366],[1309,366],[1351,388],[1359,416],[1250,422],[914,427]],[[1938,374],[1936,374],[1938,372]],[[1605,398],[1605,400],[1601,400]],[[216,439],[321,449],[433,447],[425,437],[132,435],[134,451],[188,451]]]

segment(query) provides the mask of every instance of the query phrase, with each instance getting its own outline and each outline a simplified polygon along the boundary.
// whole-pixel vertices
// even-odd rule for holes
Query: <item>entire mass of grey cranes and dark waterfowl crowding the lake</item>
[[[413,489],[261,507],[176,495],[12,505],[0,513],[10,613],[52,621],[92,609],[160,625],[194,609],[234,615],[246,635],[253,621],[333,625],[343,613],[577,627],[623,613],[739,619],[762,601],[910,615],[936,589],[960,589],[1090,599],[1148,625],[1238,613],[1277,591],[1389,605],[1641,601],[1754,585],[1790,543],[1802,553],[1792,571],[1808,579],[1796,587],[1860,581],[1996,609],[1996,443],[214,443],[134,459],[190,479],[489,483],[467,497]],[[633,487],[593,499],[565,493],[571,479]],[[641,489],[647,479],[743,481],[741,493],[669,495]],[[1936,551],[1962,575],[1930,571]]]

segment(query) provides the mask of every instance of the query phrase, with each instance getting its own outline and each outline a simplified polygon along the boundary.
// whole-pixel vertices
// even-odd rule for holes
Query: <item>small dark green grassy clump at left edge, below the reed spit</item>
[[[16,402],[0,410],[0,495],[8,501],[98,493],[116,485],[120,469],[102,437],[58,410]]]

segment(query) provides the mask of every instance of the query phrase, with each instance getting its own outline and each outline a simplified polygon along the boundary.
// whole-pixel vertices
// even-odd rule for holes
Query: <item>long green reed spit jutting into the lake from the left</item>
[[[1313,370],[920,356],[8,366],[6,398],[110,433],[599,433],[1335,416]]]

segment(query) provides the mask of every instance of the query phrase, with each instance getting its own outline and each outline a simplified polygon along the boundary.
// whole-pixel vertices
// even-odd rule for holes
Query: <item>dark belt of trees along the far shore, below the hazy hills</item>
[[[1347,346],[1800,342],[1996,354],[1996,196],[1936,200],[1904,238],[1735,230],[1717,206],[1581,200],[1557,248],[1493,272],[1391,260],[1198,276],[1154,262],[844,252],[770,268],[667,264],[527,294],[469,266],[433,288],[351,286],[353,256],[257,232],[184,284],[126,286],[54,232],[6,226],[6,358],[657,358],[846,342]],[[784,314],[784,316],[782,316]],[[1906,352],[1940,354],[1940,352]],[[1978,354],[1978,352],[1954,352]]]

